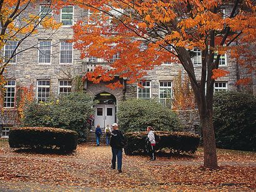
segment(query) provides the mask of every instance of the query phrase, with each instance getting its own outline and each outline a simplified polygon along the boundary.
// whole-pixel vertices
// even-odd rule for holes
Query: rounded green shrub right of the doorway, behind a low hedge
[[[120,103],[117,117],[125,133],[145,131],[147,126],[157,131],[180,131],[176,113],[162,107],[156,100],[129,99]]]

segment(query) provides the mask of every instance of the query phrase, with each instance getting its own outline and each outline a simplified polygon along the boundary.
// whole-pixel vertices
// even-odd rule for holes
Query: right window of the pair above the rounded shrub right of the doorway
[[[160,81],[159,82],[159,101],[164,107],[172,107],[172,82]]]

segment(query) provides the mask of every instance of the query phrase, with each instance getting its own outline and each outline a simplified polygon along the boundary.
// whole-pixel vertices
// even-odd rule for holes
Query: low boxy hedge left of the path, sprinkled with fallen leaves
[[[13,128],[9,134],[11,148],[57,149],[65,153],[76,150],[78,134],[51,127]]]

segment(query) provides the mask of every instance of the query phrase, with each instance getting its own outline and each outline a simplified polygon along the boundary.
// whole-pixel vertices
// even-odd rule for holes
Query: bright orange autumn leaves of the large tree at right
[[[113,75],[120,74],[135,82],[147,70],[162,62],[181,62],[180,52],[177,51],[180,48],[194,50],[196,47],[223,55],[234,49],[248,47],[256,37],[255,6],[251,1],[238,2],[243,8],[235,16],[230,16],[232,10],[223,11],[227,4],[218,1],[69,2],[90,9],[91,17],[94,18],[93,22],[90,18],[90,22],[86,22],[87,19],[78,21],[73,27],[74,47],[81,50],[82,58],[94,56],[111,65],[110,70],[97,69],[92,74],[87,73],[87,79],[94,83],[112,80]],[[244,8],[246,6],[248,9]],[[216,11],[213,11],[214,7]],[[185,14],[189,16],[185,17]],[[226,28],[229,31],[227,36],[224,32]],[[150,31],[155,34],[150,34]],[[214,46],[209,41],[211,31],[216,34]],[[231,44],[234,41],[242,44]],[[144,43],[147,49],[140,51],[139,46]],[[166,50],[165,46],[172,47],[172,50]],[[111,62],[111,58],[117,53],[120,59]],[[223,70],[216,70],[216,62],[212,64],[212,68],[212,74],[209,75],[213,79],[228,74]],[[255,69],[249,70],[253,71]]]

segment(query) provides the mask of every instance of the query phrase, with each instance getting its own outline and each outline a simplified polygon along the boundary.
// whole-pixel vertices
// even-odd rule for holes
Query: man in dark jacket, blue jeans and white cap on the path
[[[117,123],[112,125],[113,130],[111,133],[111,150],[112,150],[112,164],[111,168],[116,169],[116,159],[117,159],[117,170],[122,173],[122,148],[126,145],[124,140],[124,135],[118,130]]]

